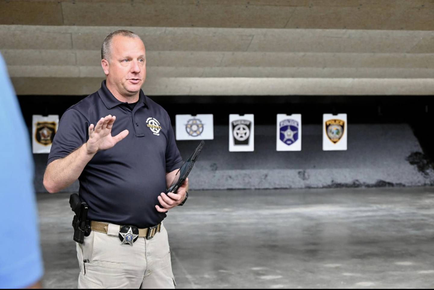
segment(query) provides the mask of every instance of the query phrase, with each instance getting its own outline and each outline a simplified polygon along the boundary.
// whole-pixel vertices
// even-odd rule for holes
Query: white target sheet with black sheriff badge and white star
[[[253,114],[229,115],[229,151],[254,151]]]

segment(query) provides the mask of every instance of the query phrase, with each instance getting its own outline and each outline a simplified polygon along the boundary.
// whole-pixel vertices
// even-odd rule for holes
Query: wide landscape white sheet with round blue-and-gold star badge
[[[176,115],[176,140],[214,139],[212,114]]]

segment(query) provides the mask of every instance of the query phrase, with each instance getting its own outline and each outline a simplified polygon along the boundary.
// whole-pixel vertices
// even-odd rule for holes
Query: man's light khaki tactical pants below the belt
[[[150,240],[139,237],[133,246],[118,237],[91,231],[77,245],[79,288],[174,288],[167,231]]]

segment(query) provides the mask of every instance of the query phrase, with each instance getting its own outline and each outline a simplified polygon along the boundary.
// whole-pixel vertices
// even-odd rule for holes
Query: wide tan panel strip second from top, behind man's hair
[[[132,29],[147,51],[433,53],[434,31],[0,26],[0,49],[99,50],[105,36]]]

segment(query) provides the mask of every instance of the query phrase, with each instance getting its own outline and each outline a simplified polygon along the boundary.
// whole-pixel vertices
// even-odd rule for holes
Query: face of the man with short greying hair
[[[139,38],[117,35],[112,38],[110,59],[102,68],[107,83],[121,96],[134,96],[146,78],[145,45]]]

